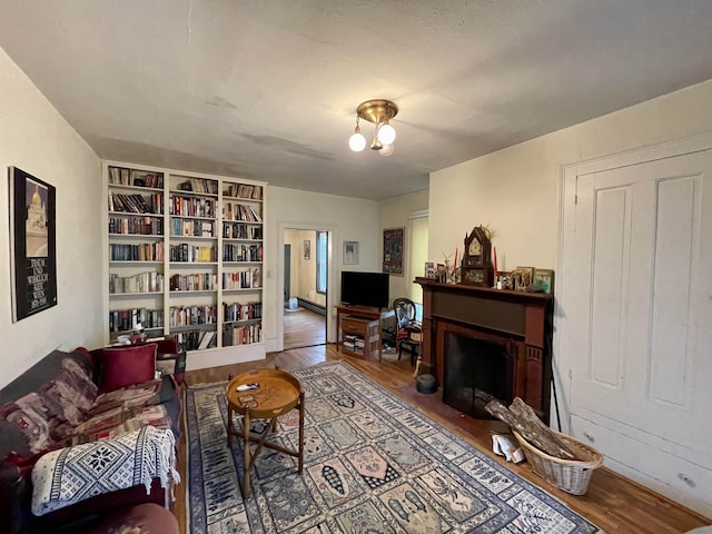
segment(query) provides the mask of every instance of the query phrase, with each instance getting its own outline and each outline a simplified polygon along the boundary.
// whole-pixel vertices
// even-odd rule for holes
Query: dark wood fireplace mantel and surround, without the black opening
[[[548,422],[553,295],[439,284],[416,278],[423,287],[423,362],[443,383],[445,334],[471,333],[520,343],[514,393]]]

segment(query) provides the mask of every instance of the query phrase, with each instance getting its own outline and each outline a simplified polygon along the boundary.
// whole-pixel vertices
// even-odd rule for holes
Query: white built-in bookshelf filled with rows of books
[[[140,324],[214,365],[264,355],[265,185],[112,161],[103,175],[107,343]]]

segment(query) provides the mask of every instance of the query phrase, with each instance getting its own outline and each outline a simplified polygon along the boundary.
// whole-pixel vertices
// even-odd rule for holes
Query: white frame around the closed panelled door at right
[[[566,266],[564,265],[564,251],[568,245],[570,235],[567,228],[573,225],[576,204],[576,179],[581,175],[602,172],[621,167],[629,167],[660,159],[683,156],[686,154],[702,152],[712,149],[712,134],[676,139],[650,147],[636,148],[625,152],[607,155],[575,164],[566,164],[560,167],[558,186],[558,246],[556,259],[556,298],[554,299],[554,339],[552,358],[552,377],[554,380],[552,392],[551,413],[558,414],[561,431],[571,434],[570,389],[572,377],[572,355],[562,353],[562,339],[567,335],[566,315]],[[554,394],[555,393],[555,394]],[[552,421],[554,418],[552,417]]]

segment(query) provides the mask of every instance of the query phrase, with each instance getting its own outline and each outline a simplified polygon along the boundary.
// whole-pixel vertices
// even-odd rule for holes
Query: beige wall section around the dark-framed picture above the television
[[[380,265],[376,267],[376,271],[383,270],[383,229],[384,228],[398,228],[404,227],[406,229],[405,236],[405,266],[404,276],[390,276],[389,293],[390,301],[397,297],[404,297],[411,294],[411,285],[413,284],[413,266],[409,265],[409,247],[411,238],[408,236],[409,217],[414,211],[422,211],[428,209],[428,191],[413,192],[411,195],[404,195],[402,197],[390,198],[380,202],[380,233],[374,239],[376,240],[378,250],[378,261]],[[356,270],[356,269],[354,269]],[[364,269],[367,270],[367,269]]]

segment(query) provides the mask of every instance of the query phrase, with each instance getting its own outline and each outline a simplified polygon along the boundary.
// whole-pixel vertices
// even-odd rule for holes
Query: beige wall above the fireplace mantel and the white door
[[[431,174],[432,259],[486,225],[497,267],[556,268],[564,165],[712,131],[712,80]]]

